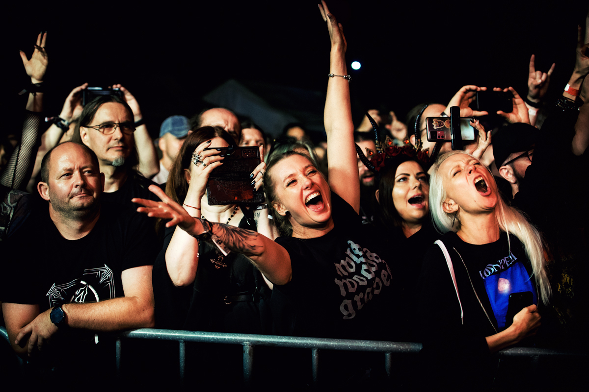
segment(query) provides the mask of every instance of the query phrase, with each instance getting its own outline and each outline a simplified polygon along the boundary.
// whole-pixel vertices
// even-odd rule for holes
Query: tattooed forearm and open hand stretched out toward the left
[[[166,223],[166,227],[178,225],[190,236],[216,244],[224,254],[229,252],[244,254],[274,284],[280,285],[290,282],[292,277],[290,256],[286,249],[273,240],[252,230],[211,223],[190,216],[182,206],[170,199],[159,187],[150,185],[149,189],[163,201],[133,199],[134,203],[144,206],[139,207],[138,212],[147,213],[147,216],[150,217],[170,219],[170,222]]]

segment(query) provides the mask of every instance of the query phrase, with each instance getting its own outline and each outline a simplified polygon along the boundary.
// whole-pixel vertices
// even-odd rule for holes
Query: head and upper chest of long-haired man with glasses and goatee
[[[133,111],[125,100],[103,95],[88,103],[74,131],[72,141],[88,146],[104,173],[102,200],[135,208],[133,197],[155,200],[148,186],[155,184],[137,171],[139,162],[133,132]]]

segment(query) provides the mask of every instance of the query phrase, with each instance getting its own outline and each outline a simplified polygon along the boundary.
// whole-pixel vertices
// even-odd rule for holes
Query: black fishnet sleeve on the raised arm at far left
[[[22,123],[21,142],[16,146],[8,165],[6,165],[0,183],[12,189],[21,189],[27,186],[31,177],[39,143],[39,129],[42,116],[37,112],[25,112],[25,120]]]

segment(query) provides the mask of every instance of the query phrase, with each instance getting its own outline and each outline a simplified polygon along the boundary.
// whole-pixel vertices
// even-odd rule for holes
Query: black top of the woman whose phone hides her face
[[[239,227],[256,230],[251,211],[244,210]],[[166,229],[164,247],[155,260],[152,274],[156,326],[164,329],[269,333],[272,324],[268,304],[270,289],[262,273],[243,254],[231,252],[222,256],[216,247],[201,242],[194,282],[185,287],[174,286],[166,266],[166,250],[174,230],[175,226]],[[230,299],[224,300],[224,297]]]

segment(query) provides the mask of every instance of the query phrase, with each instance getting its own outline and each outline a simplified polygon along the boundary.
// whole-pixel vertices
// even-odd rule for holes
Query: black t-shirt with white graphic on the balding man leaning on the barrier
[[[3,263],[0,300],[39,304],[42,312],[63,303],[124,297],[121,272],[153,264],[157,243],[147,216],[108,203],[102,203],[90,233],[64,239],[45,204],[6,241],[13,262]]]

